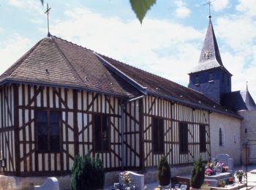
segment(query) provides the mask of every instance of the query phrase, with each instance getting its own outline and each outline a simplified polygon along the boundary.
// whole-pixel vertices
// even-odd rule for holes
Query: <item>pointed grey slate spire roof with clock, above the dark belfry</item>
[[[210,54],[209,58],[206,58],[207,52]],[[211,23],[211,16],[209,16],[209,23],[208,23],[208,28],[206,32],[206,38],[203,42],[203,48],[200,53],[199,63],[192,70],[192,73],[200,72],[208,69],[215,69],[219,67],[222,69],[225,69],[225,71],[229,75],[231,75],[230,72],[228,72],[225,66],[222,64],[222,58],[219,53],[219,47],[218,47],[217,39],[215,37],[214,27],[212,26],[212,23]]]

